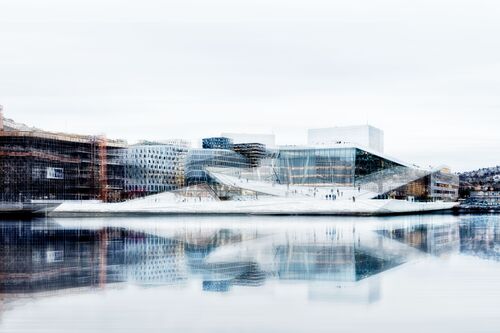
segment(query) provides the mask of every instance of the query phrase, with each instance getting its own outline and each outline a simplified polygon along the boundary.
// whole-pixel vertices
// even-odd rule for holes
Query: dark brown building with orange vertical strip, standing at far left
[[[0,130],[0,201],[118,201],[123,141],[51,133],[4,121]]]

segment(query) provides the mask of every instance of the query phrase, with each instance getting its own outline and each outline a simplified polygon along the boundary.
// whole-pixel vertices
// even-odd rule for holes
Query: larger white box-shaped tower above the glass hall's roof
[[[370,125],[309,129],[307,141],[311,146],[353,143],[384,152],[384,132]]]

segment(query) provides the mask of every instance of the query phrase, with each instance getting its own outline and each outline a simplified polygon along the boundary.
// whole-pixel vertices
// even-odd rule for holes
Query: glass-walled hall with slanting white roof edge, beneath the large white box
[[[458,176],[448,168],[420,169],[355,144],[281,147],[273,153],[279,184],[350,187],[381,198],[456,201]]]

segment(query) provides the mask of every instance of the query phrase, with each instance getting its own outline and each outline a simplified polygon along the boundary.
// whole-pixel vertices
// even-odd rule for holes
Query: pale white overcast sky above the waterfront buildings
[[[1,0],[0,104],[110,138],[369,123],[385,150],[500,165],[498,0]]]

